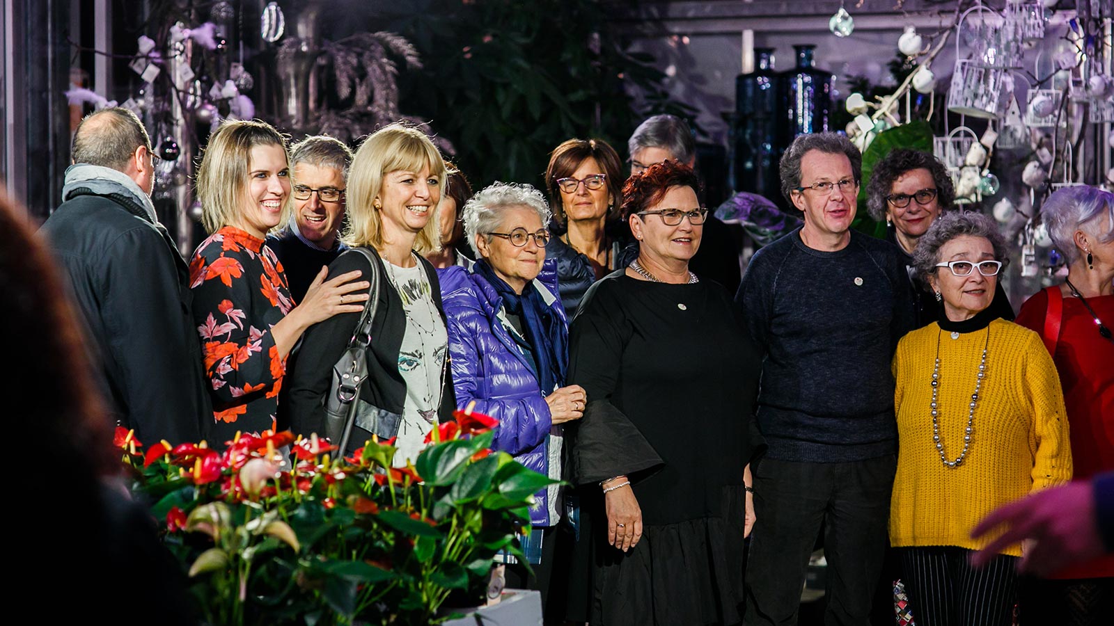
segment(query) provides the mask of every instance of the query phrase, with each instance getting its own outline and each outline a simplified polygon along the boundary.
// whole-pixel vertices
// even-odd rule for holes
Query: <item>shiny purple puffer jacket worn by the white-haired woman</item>
[[[527,468],[549,473],[549,405],[526,356],[519,351],[502,317],[502,299],[486,278],[465,267],[438,270],[441,300],[449,321],[449,355],[457,405],[475,401],[475,410],[499,420],[496,450],[508,452]],[[546,260],[543,271],[526,288],[536,288],[560,319],[565,310],[557,297],[556,262]],[[564,326],[567,332],[567,322]],[[558,472],[559,473],[559,472]],[[546,489],[536,495],[530,524],[553,526]],[[555,509],[560,511],[559,502]]]

